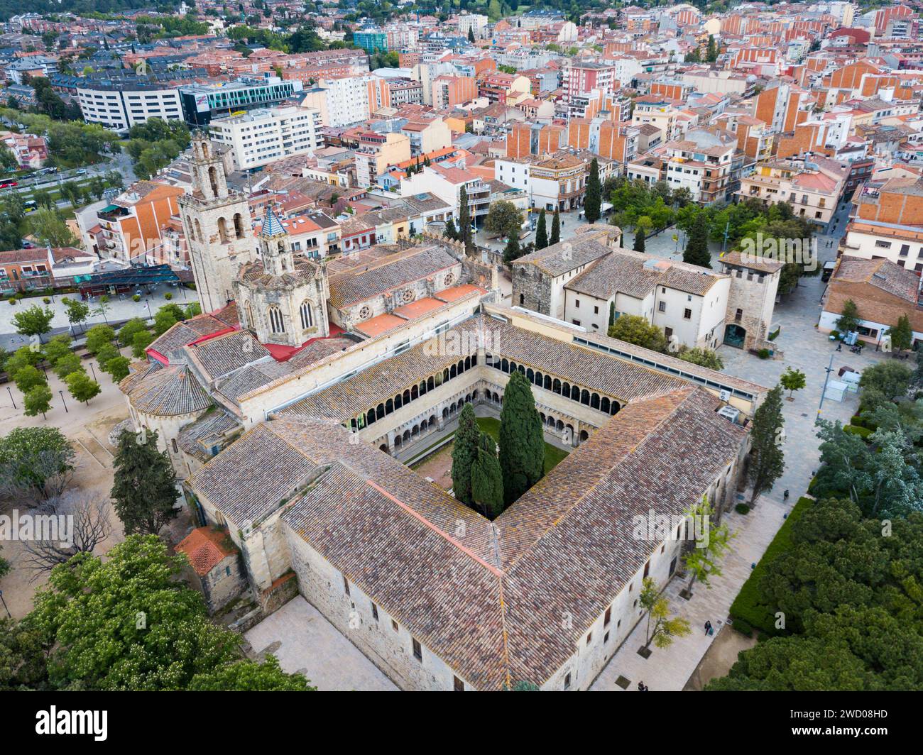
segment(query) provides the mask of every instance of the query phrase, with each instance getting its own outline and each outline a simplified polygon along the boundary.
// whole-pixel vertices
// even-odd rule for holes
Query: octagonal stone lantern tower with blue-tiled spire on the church
[[[241,325],[260,343],[297,348],[330,335],[325,263],[294,255],[289,234],[271,209],[259,231],[259,259],[234,282]]]

